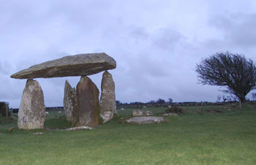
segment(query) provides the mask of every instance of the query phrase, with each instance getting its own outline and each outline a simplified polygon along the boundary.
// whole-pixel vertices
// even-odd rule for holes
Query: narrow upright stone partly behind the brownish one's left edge
[[[75,88],[72,88],[66,80],[64,88],[64,112],[68,121],[72,122],[72,113],[75,112],[76,96]]]

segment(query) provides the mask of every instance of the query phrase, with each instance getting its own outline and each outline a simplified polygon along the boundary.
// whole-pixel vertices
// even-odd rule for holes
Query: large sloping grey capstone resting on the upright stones
[[[106,53],[69,55],[12,74],[16,79],[84,76],[115,69],[116,61]]]

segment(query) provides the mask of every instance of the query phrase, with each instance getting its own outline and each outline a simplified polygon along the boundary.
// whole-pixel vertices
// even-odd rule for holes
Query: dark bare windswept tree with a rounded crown
[[[244,55],[215,53],[197,64],[196,72],[201,84],[226,87],[223,91],[236,95],[241,102],[246,101],[247,93],[255,89],[256,66]]]

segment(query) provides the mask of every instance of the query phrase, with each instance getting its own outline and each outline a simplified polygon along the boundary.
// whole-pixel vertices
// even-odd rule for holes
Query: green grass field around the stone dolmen
[[[132,110],[119,110],[118,118],[90,131],[56,131],[70,126],[63,112],[51,112],[44,130],[18,130],[17,119],[1,118],[0,164],[256,164],[256,106],[244,105],[242,113],[232,105],[184,111],[164,123],[130,125],[118,121]]]

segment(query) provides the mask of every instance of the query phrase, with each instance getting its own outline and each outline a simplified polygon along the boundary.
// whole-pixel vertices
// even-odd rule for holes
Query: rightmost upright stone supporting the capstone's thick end
[[[99,116],[102,118],[103,123],[111,120],[116,111],[116,93],[115,82],[112,75],[105,71],[102,75],[102,93],[100,96]]]

